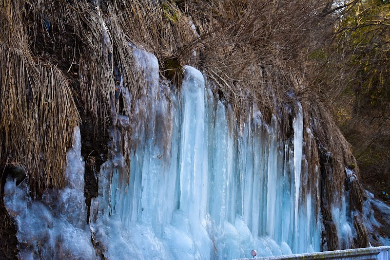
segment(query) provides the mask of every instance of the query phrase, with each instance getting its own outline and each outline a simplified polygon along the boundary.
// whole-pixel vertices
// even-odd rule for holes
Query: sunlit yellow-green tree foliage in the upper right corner
[[[347,51],[360,107],[383,109],[390,99],[390,3],[362,1],[340,24],[338,41]],[[348,59],[347,59],[348,60]]]

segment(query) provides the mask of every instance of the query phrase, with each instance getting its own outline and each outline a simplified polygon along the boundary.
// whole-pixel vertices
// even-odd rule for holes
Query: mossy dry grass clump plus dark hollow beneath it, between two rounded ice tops
[[[125,40],[126,45],[131,42],[153,53],[162,74],[179,86],[181,66],[195,66],[198,58],[193,54],[198,48],[193,22],[173,1],[118,0],[107,2],[106,7],[107,24],[117,37],[114,41]],[[128,55],[132,54],[125,56],[127,60]]]

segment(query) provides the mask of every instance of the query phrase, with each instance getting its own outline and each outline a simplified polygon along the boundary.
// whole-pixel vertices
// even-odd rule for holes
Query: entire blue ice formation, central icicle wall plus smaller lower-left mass
[[[113,120],[89,224],[78,129],[63,188],[32,200],[27,180],[8,178],[4,203],[17,225],[20,258],[207,260],[251,257],[253,249],[258,256],[320,251],[319,184],[308,181],[319,173],[308,172],[303,136],[311,131],[301,104],[294,104],[293,137],[283,140],[276,116],[266,124],[254,104],[237,118],[195,68],[184,67],[177,91],[159,77],[154,55],[133,53],[146,86],[133,100],[117,70],[120,111],[133,120]]]

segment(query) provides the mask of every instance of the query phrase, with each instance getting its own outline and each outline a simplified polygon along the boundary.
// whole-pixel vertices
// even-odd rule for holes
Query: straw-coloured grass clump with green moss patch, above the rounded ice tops
[[[134,44],[154,53],[159,61],[176,57],[182,65],[195,65],[195,29],[173,1],[118,0],[107,5]]]

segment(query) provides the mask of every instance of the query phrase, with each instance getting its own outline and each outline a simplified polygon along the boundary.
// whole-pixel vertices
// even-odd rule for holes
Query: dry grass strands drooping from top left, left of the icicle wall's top
[[[79,42],[78,76],[85,109],[103,124],[111,119],[112,97],[115,96],[113,46],[111,35],[98,6],[89,1],[31,3],[32,23],[42,17],[55,24],[59,31],[70,25]],[[34,27],[34,26],[32,26]],[[66,48],[66,46],[60,46]]]

